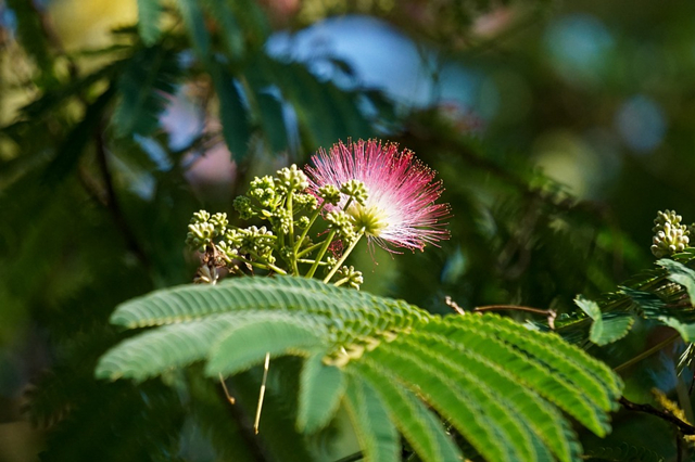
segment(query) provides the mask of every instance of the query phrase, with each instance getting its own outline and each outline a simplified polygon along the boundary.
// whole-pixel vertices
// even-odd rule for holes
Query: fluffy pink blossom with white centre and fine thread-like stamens
[[[344,191],[355,180],[364,183],[366,198],[351,201],[342,195],[338,204],[325,204],[324,210],[344,210],[370,243],[389,252],[395,252],[390,246],[422,251],[426,244],[448,239],[441,222],[450,215],[448,204],[435,204],[442,183],[434,181],[435,172],[412,151],[399,152],[397,144],[377,140],[346,145],[341,141],[329,152],[319,150],[312,164],[306,172],[315,195],[326,185]]]

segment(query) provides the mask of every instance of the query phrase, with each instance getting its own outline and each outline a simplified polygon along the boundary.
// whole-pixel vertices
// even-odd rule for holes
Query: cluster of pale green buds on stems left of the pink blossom
[[[363,182],[350,180],[340,189],[320,188],[318,197],[307,190],[306,175],[292,165],[275,177],[256,177],[248,192],[235,200],[239,218],[256,221],[254,226],[230,226],[226,214],[193,214],[186,244],[203,255],[195,282],[215,283],[222,268],[232,273],[261,270],[308,278],[320,268],[325,282],[336,277],[336,285],[359,288],[362,272],[343,262],[365,234],[351,206],[364,205],[367,189]],[[341,203],[342,209],[325,213],[325,205]],[[315,226],[317,231],[311,234]],[[334,255],[329,248],[344,251]]]

